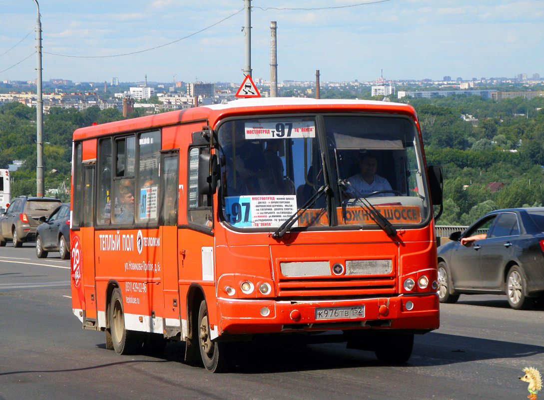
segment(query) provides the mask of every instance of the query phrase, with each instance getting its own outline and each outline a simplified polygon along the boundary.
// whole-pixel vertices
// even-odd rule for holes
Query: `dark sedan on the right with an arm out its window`
[[[437,251],[441,303],[494,293],[522,309],[544,294],[544,208],[493,211],[450,239]]]

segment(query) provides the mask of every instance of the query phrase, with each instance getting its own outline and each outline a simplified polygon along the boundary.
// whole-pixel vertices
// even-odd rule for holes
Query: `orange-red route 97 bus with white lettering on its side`
[[[71,293],[119,354],[225,370],[296,333],[386,362],[439,325],[434,206],[406,104],[237,100],[73,134]]]

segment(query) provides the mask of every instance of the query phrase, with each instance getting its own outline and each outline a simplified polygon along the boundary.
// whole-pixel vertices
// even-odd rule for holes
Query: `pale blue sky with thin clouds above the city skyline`
[[[242,82],[244,0],[38,0],[43,80]],[[544,77],[543,0],[252,0],[253,78]],[[0,81],[36,78],[36,3],[0,0]],[[127,54],[127,55],[122,55]]]

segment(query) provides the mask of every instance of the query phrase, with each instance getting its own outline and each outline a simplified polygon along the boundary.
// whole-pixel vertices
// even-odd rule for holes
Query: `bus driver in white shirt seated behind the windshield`
[[[366,196],[379,190],[392,190],[391,185],[384,177],[376,174],[378,170],[378,159],[371,152],[361,155],[358,161],[360,172],[350,176],[348,182],[354,190],[347,190],[347,194],[357,197],[359,194]],[[388,193],[381,193],[379,196],[387,196]]]

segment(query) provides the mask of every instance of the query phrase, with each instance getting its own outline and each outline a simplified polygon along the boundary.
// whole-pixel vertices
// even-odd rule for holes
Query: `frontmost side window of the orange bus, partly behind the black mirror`
[[[213,226],[212,196],[199,193],[199,155],[209,153],[208,147],[189,149],[189,223],[208,228]]]

